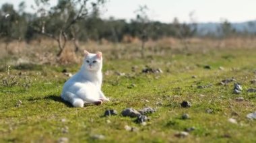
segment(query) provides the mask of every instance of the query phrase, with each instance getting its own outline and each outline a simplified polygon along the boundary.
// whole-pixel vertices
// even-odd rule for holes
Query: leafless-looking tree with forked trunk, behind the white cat
[[[94,14],[95,9],[98,10],[98,7],[105,3],[105,0],[59,0],[56,6],[51,7],[49,0],[35,1],[38,20],[30,26],[38,34],[52,38],[58,43],[57,56],[65,49],[67,40],[73,40],[75,50],[78,50],[77,30],[73,26],[77,21]],[[58,26],[52,26],[51,21],[59,21]],[[49,27],[55,28],[55,33],[51,32]]]

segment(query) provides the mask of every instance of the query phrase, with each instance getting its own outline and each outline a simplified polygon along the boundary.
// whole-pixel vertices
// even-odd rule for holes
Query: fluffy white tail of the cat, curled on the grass
[[[73,107],[84,107],[84,101],[80,98],[77,98],[75,94],[71,92],[66,92],[65,94],[62,94],[61,97],[68,101],[73,105]]]

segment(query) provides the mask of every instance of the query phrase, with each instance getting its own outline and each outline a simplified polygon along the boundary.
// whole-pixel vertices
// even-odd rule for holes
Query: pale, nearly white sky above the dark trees
[[[0,0],[3,3],[12,3],[17,7],[22,0]],[[28,11],[34,0],[26,2]],[[57,0],[51,0],[52,5]],[[228,19],[232,22],[242,22],[256,19],[256,0],[108,0],[102,11],[102,17],[110,16],[115,19],[134,19],[134,11],[139,5],[147,5],[150,9],[150,19],[171,22],[174,17],[180,21],[189,22],[189,13],[193,11],[193,19],[197,22],[218,22]]]

